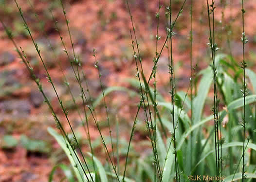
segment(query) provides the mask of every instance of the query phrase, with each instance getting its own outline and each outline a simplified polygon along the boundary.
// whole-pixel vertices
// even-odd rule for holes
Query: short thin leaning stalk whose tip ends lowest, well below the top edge
[[[107,107],[107,104],[106,104],[106,99],[105,99],[105,91],[103,89],[103,84],[102,84],[102,80],[101,80],[101,73],[100,73],[100,69],[99,69],[99,62],[96,58],[96,55],[95,55],[95,49],[93,49],[93,57],[95,58],[95,68],[97,69],[98,71],[98,76],[99,76],[99,81],[100,81],[100,87],[101,87],[101,91],[102,91],[102,96],[103,96],[103,101],[104,101],[104,107],[105,107],[105,111],[106,111],[106,116],[107,116],[107,121],[108,121],[108,127],[109,127],[109,132],[110,132],[110,143],[111,143],[111,148],[112,148],[112,155],[113,155],[113,158],[114,158],[114,146],[113,146],[113,141],[112,141],[112,134],[111,134],[111,128],[110,128],[110,117],[109,117],[109,111],[108,111],[108,107]]]

